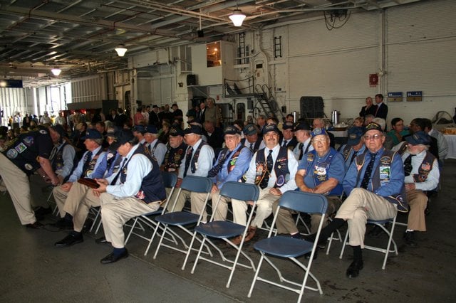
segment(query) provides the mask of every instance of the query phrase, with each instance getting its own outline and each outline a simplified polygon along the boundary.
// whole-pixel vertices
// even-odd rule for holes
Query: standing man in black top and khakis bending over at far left
[[[20,134],[9,140],[0,154],[0,176],[9,191],[16,213],[22,225],[28,228],[41,228],[31,208],[30,182],[28,176],[41,169],[43,178],[56,186],[60,180],[54,173],[49,156],[53,148],[47,129]]]

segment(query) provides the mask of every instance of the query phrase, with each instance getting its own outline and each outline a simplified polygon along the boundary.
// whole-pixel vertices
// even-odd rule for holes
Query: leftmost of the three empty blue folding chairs
[[[183,252],[183,253],[187,253],[188,251],[191,250],[191,245],[190,246],[187,245],[187,243],[185,243],[185,240],[182,237],[180,237],[180,235],[177,235],[175,232],[172,232],[172,230],[170,229],[170,226],[177,226],[178,228],[183,230],[188,235],[190,235],[190,236],[194,235],[194,233],[192,233],[190,230],[185,228],[185,225],[192,225],[192,224],[199,225],[199,222],[201,221],[204,209],[206,208],[207,201],[209,200],[209,195],[212,190],[212,180],[209,178],[204,178],[204,177],[199,177],[199,176],[186,176],[182,180],[182,184],[180,184],[179,191],[177,191],[177,196],[174,201],[175,204],[177,202],[177,198],[179,197],[180,193],[182,192],[182,189],[185,189],[187,191],[197,192],[197,193],[206,193],[203,211],[202,211],[202,213],[199,213],[199,214],[189,213],[187,211],[174,212],[174,206],[173,206],[172,211],[170,213],[164,213],[161,216],[155,217],[155,220],[158,222],[158,224],[159,225],[162,224],[162,225],[164,225],[164,227],[163,227],[162,235],[160,236],[160,241],[158,242],[157,248],[155,250],[155,254],[153,256],[154,259],[157,257],[157,253],[158,253],[158,250],[160,250],[160,246],[165,246],[166,248],[170,248],[172,250],[177,250],[177,251]],[[152,235],[152,240],[155,237],[157,230],[158,230],[158,227],[155,228],[154,235]],[[172,232],[172,234],[175,235],[176,238],[180,239],[180,241],[185,249],[179,248],[177,246],[177,243],[175,243],[174,246],[163,243],[163,238],[165,237],[165,233],[167,233],[168,230],[170,232]],[[152,243],[152,240],[150,240],[150,243]],[[192,241],[193,241],[193,238],[192,238]],[[150,243],[149,243],[149,246],[147,247],[147,250],[149,250],[149,248],[150,248]],[[208,252],[208,253],[210,253],[210,252]],[[185,260],[187,260],[187,258]],[[184,267],[182,267],[182,270],[183,269],[184,269]]]

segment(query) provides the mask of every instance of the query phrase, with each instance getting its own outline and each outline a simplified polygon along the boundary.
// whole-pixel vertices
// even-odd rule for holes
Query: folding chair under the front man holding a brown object
[[[171,173],[168,173],[166,171],[162,171],[161,173],[162,175],[162,179],[163,179],[163,184],[165,185],[165,187],[167,188],[171,188],[171,191],[170,191],[170,197],[172,196],[172,193],[174,192],[175,190],[175,186],[177,184],[177,174],[171,174]],[[163,213],[165,213],[166,211],[166,207],[169,203],[169,199],[167,199],[166,203],[165,203],[165,206],[160,206],[160,208],[157,209],[157,211],[152,211],[150,213],[143,213],[141,216],[138,216],[136,217],[134,220],[133,220],[133,224],[131,225],[131,228],[130,228],[130,233],[128,233],[128,236],[127,238],[125,239],[125,245],[128,243],[128,240],[130,239],[130,235],[137,235],[139,238],[142,238],[144,240],[146,240],[149,244],[147,245],[147,248],[144,252],[144,255],[147,255],[147,252],[149,251],[149,248],[150,248],[150,245],[152,244],[152,240],[153,240],[153,236],[155,235],[155,230],[157,229],[157,222],[155,222],[154,220],[152,220],[152,217],[155,217],[157,215],[162,215]],[[142,235],[140,233],[135,233],[135,227],[138,223],[138,225],[140,225],[140,223],[144,223],[145,225],[149,226],[150,228],[152,228],[152,230],[154,230],[154,233],[152,233],[152,236],[151,237],[147,237],[145,235]],[[141,230],[145,230],[142,225],[140,225],[140,229]],[[175,239],[173,238],[172,241],[176,242]]]

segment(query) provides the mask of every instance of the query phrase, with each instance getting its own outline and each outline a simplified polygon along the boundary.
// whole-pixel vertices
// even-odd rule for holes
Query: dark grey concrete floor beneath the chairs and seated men
[[[351,249],[338,258],[341,243],[335,243],[329,255],[321,251],[312,265],[312,272],[321,281],[323,295],[304,294],[309,302],[455,302],[456,287],[456,161],[447,160],[442,175],[442,189],[432,198],[427,216],[427,233],[419,238],[419,247],[402,245],[404,227],[398,226],[395,240],[399,255],[391,255],[381,270],[383,255],[363,251],[364,269],[355,280],[345,277],[351,262]],[[43,197],[44,198],[44,197]],[[56,220],[48,216],[43,223]],[[398,220],[405,221],[405,216]],[[157,241],[144,257],[145,241],[133,236],[127,247],[130,257],[112,265],[101,265],[109,245],[98,245],[95,238],[103,235],[88,233],[85,241],[71,248],[55,248],[53,243],[66,233],[29,230],[20,225],[8,194],[0,195],[0,302],[295,302],[297,295],[257,282],[252,298],[247,298],[254,273],[237,268],[229,289],[225,287],[229,272],[208,262],[201,262],[194,275],[190,263],[182,271],[184,255],[162,248],[152,259]],[[345,233],[345,229],[343,229]],[[252,242],[265,237],[259,233]],[[367,243],[381,243],[366,237]],[[224,245],[224,251],[229,248]],[[259,255],[252,243],[245,250],[257,263]],[[231,254],[232,255],[232,254]],[[280,260],[286,275],[299,277],[295,265]],[[268,265],[264,275],[274,277]]]

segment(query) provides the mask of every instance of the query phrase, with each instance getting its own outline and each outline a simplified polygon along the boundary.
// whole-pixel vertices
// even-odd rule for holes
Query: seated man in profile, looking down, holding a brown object
[[[106,241],[113,245],[113,252],[100,260],[102,264],[128,257],[123,225],[143,213],[157,211],[166,198],[160,167],[147,147],[138,144],[138,139],[126,129],[118,135],[118,141],[113,145],[116,147],[123,156],[119,173],[98,179],[100,187],[93,190],[100,196]]]

